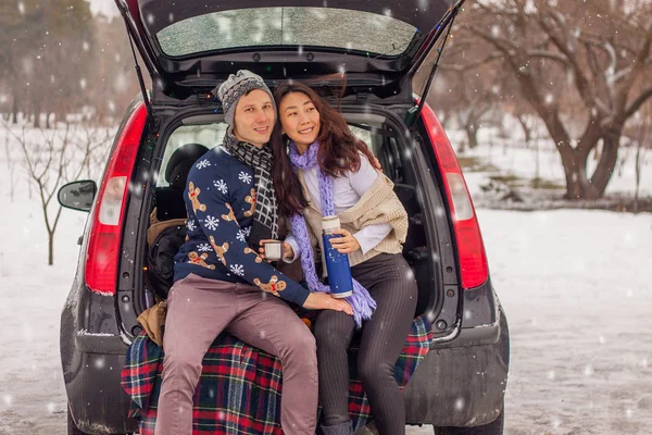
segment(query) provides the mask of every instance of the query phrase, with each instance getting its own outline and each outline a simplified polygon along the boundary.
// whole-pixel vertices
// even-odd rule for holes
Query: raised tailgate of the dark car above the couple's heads
[[[267,80],[329,82],[412,103],[411,79],[442,33],[452,0],[115,0],[154,101],[200,97],[240,69]],[[193,99],[196,102],[196,99]]]

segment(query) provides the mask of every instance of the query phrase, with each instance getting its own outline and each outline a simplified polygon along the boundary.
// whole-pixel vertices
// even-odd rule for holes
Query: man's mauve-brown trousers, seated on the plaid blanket
[[[283,431],[314,435],[318,381],[310,330],[284,301],[259,287],[195,274],[176,282],[167,298],[155,435],[192,434],[192,396],[201,362],[225,330],[278,357],[283,365]]]

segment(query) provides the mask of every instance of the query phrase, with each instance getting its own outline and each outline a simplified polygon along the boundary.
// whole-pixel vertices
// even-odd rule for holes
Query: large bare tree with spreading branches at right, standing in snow
[[[652,4],[477,0],[462,17],[457,39],[482,54],[457,66],[507,71],[555,142],[566,197],[600,198],[626,122],[652,97]]]

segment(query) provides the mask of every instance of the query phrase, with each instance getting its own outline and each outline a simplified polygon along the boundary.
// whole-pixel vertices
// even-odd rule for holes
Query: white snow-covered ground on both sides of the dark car
[[[4,133],[0,129],[1,146]],[[54,265],[48,266],[36,191],[29,192],[18,165],[10,175],[2,151],[0,435],[64,434],[59,316],[86,214],[62,212]],[[479,192],[484,175],[469,175],[472,191]],[[578,210],[478,210],[478,215],[512,336],[505,434],[650,434],[652,215]]]

